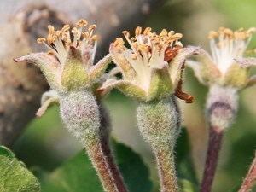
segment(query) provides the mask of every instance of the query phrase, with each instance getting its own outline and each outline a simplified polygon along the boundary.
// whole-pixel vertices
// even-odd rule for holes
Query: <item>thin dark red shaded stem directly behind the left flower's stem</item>
[[[102,153],[105,155],[105,158],[108,163],[109,172],[111,172],[111,175],[113,176],[113,183],[116,184],[116,187],[119,192],[127,192],[123,177],[121,176],[121,173],[119,172],[119,167],[116,165],[116,162],[113,158],[113,152],[110,148],[109,143],[109,134],[110,134],[110,122],[109,117],[106,109],[104,106],[98,102],[100,113],[101,113],[101,143],[102,143]]]

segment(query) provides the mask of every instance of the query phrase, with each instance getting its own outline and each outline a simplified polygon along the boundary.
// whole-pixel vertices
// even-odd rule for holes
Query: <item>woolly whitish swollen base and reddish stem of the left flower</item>
[[[102,146],[102,137],[109,136],[109,127],[103,130],[99,106],[91,90],[71,90],[60,94],[61,118],[67,129],[86,149],[106,192],[119,192],[114,183],[108,156]]]

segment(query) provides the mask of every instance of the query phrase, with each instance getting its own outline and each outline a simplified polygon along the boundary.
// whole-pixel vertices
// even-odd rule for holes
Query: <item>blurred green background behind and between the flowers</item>
[[[148,16],[145,26],[155,32],[162,28],[183,33],[184,45],[201,45],[209,50],[207,34],[219,26],[236,30],[256,26],[255,0],[168,0],[160,5],[154,15]],[[256,46],[256,34],[250,48]],[[198,178],[204,167],[207,148],[207,126],[204,121],[204,105],[207,87],[199,84],[194,74],[186,70],[184,89],[195,96],[193,104],[179,101],[182,109],[182,125],[189,130],[193,158]],[[230,191],[240,185],[253,160],[256,148],[256,87],[241,91],[236,122],[224,136],[218,163],[218,172],[212,191]],[[154,157],[137,131],[136,102],[113,90],[104,101],[112,117],[113,137],[131,146],[150,166],[154,191],[158,191]],[[20,160],[28,167],[41,166],[53,170],[76,154],[81,148],[61,124],[58,107],[50,108],[41,119],[33,119],[26,131],[12,147]]]

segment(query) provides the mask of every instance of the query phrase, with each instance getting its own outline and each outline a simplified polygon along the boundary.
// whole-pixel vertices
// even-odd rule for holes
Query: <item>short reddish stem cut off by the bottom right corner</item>
[[[239,192],[249,192],[253,187],[253,183],[256,183],[256,154],[253,163],[247,172],[247,177],[245,177],[243,183],[241,184]]]

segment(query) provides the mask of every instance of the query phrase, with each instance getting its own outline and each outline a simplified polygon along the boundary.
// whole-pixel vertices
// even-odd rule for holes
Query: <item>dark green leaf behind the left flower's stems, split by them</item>
[[[140,156],[122,143],[112,141],[113,153],[120,172],[131,192],[150,192],[148,167]],[[38,175],[43,192],[102,192],[102,184],[87,154],[81,151],[54,172]]]

